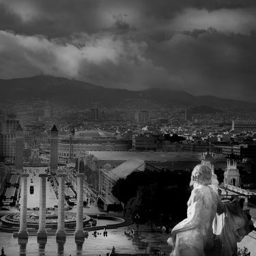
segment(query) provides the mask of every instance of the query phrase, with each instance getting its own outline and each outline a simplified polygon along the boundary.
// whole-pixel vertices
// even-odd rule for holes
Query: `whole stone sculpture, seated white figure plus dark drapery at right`
[[[167,241],[171,256],[236,256],[236,243],[252,231],[251,218],[240,203],[223,205],[212,189],[212,170],[197,165],[187,218],[173,227]]]

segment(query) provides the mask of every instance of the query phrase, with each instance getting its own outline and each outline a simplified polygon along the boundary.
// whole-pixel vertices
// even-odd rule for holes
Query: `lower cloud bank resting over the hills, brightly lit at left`
[[[208,29],[144,42],[135,35],[104,32],[76,35],[63,44],[64,39],[1,32],[0,40],[5,53],[0,55],[0,76],[5,78],[43,71],[107,87],[168,87],[254,100],[252,94],[244,94],[256,82],[254,34]]]

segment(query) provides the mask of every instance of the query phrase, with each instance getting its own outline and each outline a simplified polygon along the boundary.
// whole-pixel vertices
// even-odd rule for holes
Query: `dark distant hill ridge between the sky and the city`
[[[147,89],[129,91],[111,89],[89,83],[54,76],[33,76],[23,79],[0,79],[1,102],[31,102],[48,100],[56,104],[88,107],[98,106],[156,109],[158,107],[255,108],[256,104],[227,100],[214,96],[193,96],[185,91]],[[209,111],[209,109],[208,109]]]

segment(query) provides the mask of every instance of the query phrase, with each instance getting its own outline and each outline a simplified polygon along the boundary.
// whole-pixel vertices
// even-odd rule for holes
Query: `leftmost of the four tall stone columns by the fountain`
[[[27,177],[28,173],[20,173],[21,181],[21,205],[20,205],[20,230],[18,238],[27,239]]]

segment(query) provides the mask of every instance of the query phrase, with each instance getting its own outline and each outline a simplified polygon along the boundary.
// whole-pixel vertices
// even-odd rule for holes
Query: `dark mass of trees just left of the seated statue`
[[[126,216],[139,223],[174,225],[186,218],[189,171],[134,172],[119,179],[112,193],[125,205]]]

